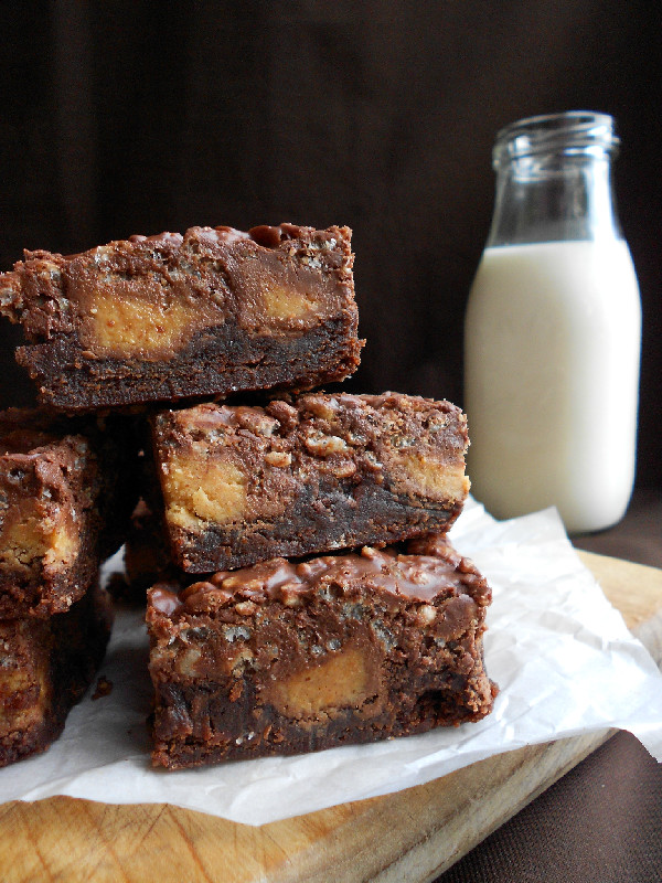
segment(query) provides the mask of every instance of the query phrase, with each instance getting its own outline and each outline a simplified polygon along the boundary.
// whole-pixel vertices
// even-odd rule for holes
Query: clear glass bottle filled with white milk
[[[502,129],[492,226],[465,327],[473,496],[496,518],[556,506],[568,533],[623,515],[634,480],[641,301],[604,114]]]

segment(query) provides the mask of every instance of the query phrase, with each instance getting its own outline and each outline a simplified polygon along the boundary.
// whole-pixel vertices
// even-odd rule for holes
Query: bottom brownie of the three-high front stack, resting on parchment
[[[478,721],[496,694],[482,650],[490,600],[439,535],[154,586],[152,760],[196,766]]]

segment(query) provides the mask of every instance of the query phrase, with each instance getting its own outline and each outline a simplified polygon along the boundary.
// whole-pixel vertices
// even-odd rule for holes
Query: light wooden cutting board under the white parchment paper
[[[662,571],[580,556],[662,662]],[[261,828],[167,805],[6,804],[0,875],[3,883],[430,881],[609,735],[521,748],[428,785]]]

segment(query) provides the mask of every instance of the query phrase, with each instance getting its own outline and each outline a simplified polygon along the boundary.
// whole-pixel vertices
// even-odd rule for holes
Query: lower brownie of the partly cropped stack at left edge
[[[95,587],[50,619],[0,620],[0,766],[45,751],[92,682],[111,611]]]

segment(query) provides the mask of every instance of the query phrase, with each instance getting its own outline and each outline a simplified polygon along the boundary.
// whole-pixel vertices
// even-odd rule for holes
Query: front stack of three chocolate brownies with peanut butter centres
[[[371,742],[492,708],[490,588],[446,539],[469,488],[465,416],[319,391],[359,364],[352,263],[346,227],[193,227],[26,253],[0,277],[44,406],[145,408],[127,565],[154,583],[157,765]]]

